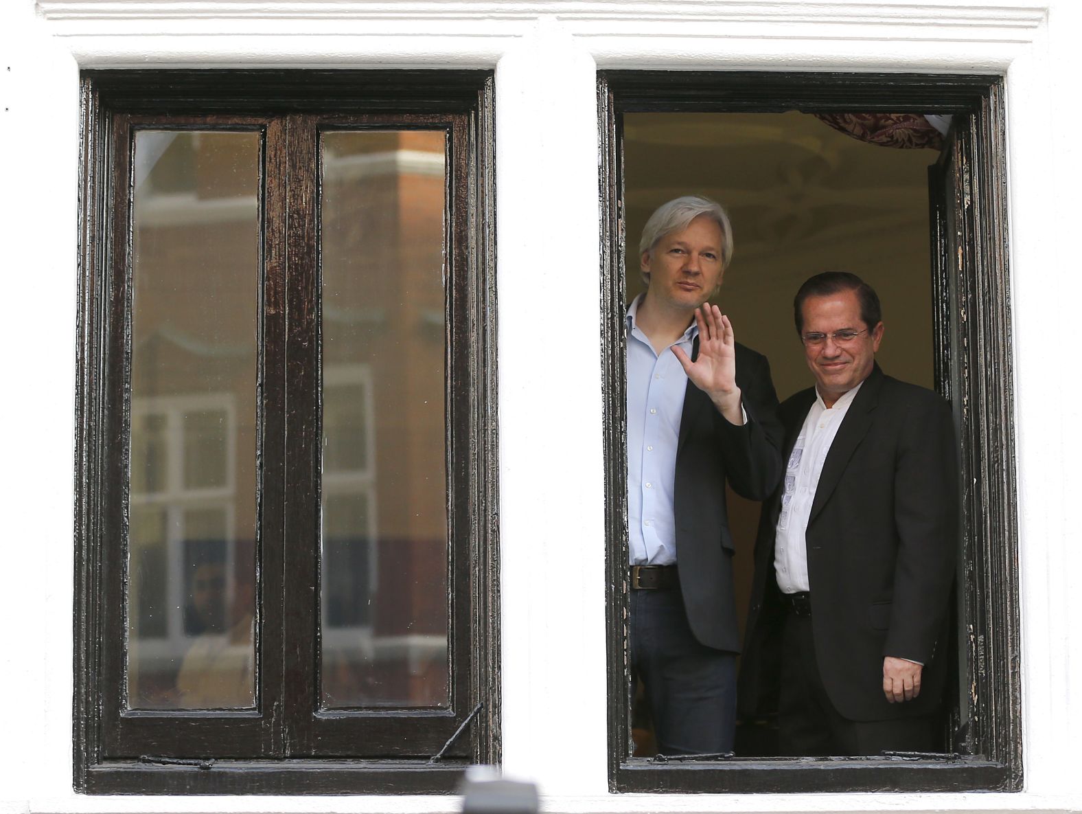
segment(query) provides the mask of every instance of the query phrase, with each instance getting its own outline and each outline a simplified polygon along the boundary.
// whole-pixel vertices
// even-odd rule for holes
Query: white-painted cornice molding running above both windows
[[[723,0],[38,0],[83,67],[490,68],[538,30],[604,68],[1002,73],[1047,6]]]

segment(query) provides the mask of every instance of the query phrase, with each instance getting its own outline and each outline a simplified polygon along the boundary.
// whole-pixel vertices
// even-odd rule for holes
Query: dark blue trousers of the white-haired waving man
[[[662,754],[733,751],[736,654],[700,643],[679,590],[631,592],[631,671],[646,690]]]

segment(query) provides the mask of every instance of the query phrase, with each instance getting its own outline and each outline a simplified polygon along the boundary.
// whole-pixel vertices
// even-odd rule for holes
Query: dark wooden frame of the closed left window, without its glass
[[[81,81],[75,788],[453,791],[465,765],[500,759],[491,71],[91,70]],[[131,341],[128,162],[138,127],[248,130],[263,139],[256,405],[263,461],[256,521],[261,691],[254,711],[133,712],[121,703]],[[316,142],[321,129],[343,128],[448,133],[448,632],[451,664],[462,672],[452,675],[447,709],[319,711],[316,705],[321,367]],[[285,178],[293,182],[280,183]],[[285,539],[306,546],[287,548]],[[312,580],[286,579],[286,573],[309,574]]]

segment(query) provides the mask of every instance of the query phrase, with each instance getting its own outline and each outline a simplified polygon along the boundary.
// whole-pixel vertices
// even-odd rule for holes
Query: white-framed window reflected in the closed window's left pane
[[[193,442],[190,433],[207,425],[216,443],[206,444],[206,436]],[[144,429],[149,438],[142,437]],[[254,461],[246,507],[237,488],[246,473],[233,454],[240,442],[235,394],[133,399],[132,472],[162,474],[145,478],[143,489],[133,483],[129,495],[131,709],[254,705]],[[206,451],[192,456],[199,444]],[[238,516],[246,513],[252,525],[240,534]],[[215,686],[223,679],[213,665],[195,668],[207,641],[194,640],[226,634],[229,658],[243,673],[229,680],[232,690]],[[242,692],[236,690],[241,682]]]

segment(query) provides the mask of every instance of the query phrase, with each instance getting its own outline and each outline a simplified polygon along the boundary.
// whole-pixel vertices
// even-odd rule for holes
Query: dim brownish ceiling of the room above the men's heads
[[[728,210],[743,260],[926,223],[925,168],[936,158],[799,113],[629,115],[624,149],[635,175],[629,226],[638,226],[629,236],[659,204],[700,192]],[[659,149],[676,160],[637,160]]]

